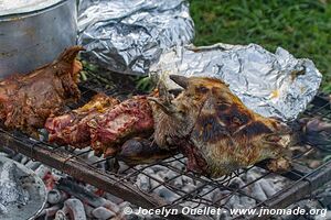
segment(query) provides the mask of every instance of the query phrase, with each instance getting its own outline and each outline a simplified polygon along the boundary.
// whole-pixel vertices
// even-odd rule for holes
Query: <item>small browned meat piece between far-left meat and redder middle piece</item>
[[[82,108],[60,117],[50,117],[45,123],[49,141],[60,145],[70,144],[75,147],[90,145],[90,132],[87,122],[118,103],[116,98],[98,94]]]

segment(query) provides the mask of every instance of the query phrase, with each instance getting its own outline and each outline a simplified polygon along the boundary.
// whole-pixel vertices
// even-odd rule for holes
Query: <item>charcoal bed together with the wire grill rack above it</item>
[[[109,77],[114,84],[109,84]],[[132,80],[109,73],[88,74],[86,80],[81,82],[83,96],[79,105],[97,91],[119,99],[131,92],[139,94],[132,87]],[[322,94],[318,95],[301,117],[321,117],[330,121],[330,100]],[[45,138],[45,134],[42,132],[41,136]],[[212,218],[231,219],[229,209],[286,208],[312,197],[316,189],[331,180],[330,161],[307,163],[327,154],[313,145],[295,146],[293,168],[284,175],[268,172],[264,164],[258,164],[218,179],[186,172],[186,158],[181,154],[158,163],[129,167],[124,163],[118,165],[114,157],[97,157],[89,147],[77,150],[53,145],[45,139],[34,140],[21,132],[3,129],[0,129],[0,145],[9,154],[14,151],[11,152],[14,160],[33,168],[46,183],[47,208],[40,215],[41,219],[55,216],[57,219],[67,216],[74,219],[126,219],[126,207],[178,210],[183,207],[220,208],[221,216],[214,215]],[[197,219],[194,212],[167,218]]]

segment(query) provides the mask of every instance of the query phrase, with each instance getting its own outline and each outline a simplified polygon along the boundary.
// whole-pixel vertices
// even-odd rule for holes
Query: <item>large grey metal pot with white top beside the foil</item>
[[[76,35],[76,0],[0,1],[0,78],[52,62]]]

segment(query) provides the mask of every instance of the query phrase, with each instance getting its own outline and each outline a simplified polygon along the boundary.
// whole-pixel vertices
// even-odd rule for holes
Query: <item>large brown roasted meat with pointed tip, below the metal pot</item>
[[[58,113],[65,103],[79,98],[75,59],[81,46],[64,51],[52,64],[26,75],[14,75],[0,81],[0,122],[36,136],[50,114]]]

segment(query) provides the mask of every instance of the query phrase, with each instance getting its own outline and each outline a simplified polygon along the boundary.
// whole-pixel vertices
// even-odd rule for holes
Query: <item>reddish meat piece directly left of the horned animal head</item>
[[[121,144],[134,136],[150,136],[152,111],[145,96],[136,96],[98,114],[87,124],[96,155],[115,155]]]

